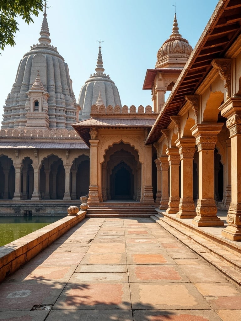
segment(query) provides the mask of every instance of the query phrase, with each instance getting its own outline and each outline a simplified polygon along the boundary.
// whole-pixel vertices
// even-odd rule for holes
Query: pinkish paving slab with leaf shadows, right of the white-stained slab
[[[67,284],[54,308],[130,308],[128,283],[74,283]]]

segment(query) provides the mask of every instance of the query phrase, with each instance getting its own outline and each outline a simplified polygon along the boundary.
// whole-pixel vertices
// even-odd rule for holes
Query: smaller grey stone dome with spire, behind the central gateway
[[[90,78],[85,82],[79,94],[78,104],[81,107],[79,113],[79,120],[90,118],[91,106],[102,99],[104,106],[121,106],[121,99],[119,91],[115,83],[111,80],[109,75],[103,74],[103,60],[101,54],[101,46],[97,58],[96,73],[90,75]]]

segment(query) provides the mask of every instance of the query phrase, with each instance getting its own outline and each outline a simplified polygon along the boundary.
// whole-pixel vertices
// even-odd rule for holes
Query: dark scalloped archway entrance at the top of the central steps
[[[106,200],[140,200],[141,163],[138,152],[123,142],[114,144],[102,164],[102,196]]]

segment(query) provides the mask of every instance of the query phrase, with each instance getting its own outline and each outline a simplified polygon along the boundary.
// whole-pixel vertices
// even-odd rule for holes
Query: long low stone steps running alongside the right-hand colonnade
[[[151,218],[184,245],[202,257],[229,281],[241,286],[241,242],[232,242],[219,235],[195,227],[156,209]],[[158,213],[159,212],[159,213]]]

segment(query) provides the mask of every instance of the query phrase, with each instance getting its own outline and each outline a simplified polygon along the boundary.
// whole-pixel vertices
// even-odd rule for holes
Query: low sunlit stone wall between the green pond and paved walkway
[[[66,216],[0,247],[0,282],[82,221],[85,215],[86,211],[79,211],[75,216]]]

